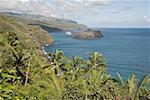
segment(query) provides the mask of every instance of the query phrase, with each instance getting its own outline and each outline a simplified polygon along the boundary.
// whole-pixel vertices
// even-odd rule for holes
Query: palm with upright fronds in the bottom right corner
[[[148,92],[147,87],[149,87],[148,85],[150,84],[150,76],[148,75],[143,76],[143,78],[137,84],[137,79],[134,74],[129,77],[127,83],[123,80],[123,78],[119,73],[117,73],[117,75],[119,77],[118,82],[120,83],[120,85],[128,89],[129,99],[138,100],[140,97],[141,98],[144,97],[143,96],[144,94],[141,94],[143,93],[142,92],[143,89],[145,89]]]

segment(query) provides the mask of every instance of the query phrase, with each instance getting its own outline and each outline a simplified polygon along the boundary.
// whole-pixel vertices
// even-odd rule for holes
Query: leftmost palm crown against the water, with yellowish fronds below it
[[[50,56],[50,65],[45,66],[43,69],[48,80],[52,83],[50,85],[55,87],[59,97],[62,97],[64,90],[64,76],[61,74],[61,65],[64,60],[63,52],[56,50],[55,53],[49,53],[48,55]]]

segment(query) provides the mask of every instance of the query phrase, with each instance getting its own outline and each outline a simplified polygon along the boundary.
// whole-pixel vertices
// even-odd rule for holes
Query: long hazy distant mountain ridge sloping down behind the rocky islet
[[[42,15],[19,14],[13,12],[2,12],[0,14],[14,17],[16,20],[22,21],[26,24],[44,25],[50,28],[58,28],[62,30],[88,29],[86,25],[78,24],[77,22],[68,19],[46,17]]]

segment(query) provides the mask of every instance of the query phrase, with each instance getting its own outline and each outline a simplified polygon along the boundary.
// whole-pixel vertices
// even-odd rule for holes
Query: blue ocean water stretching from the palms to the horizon
[[[107,72],[116,77],[119,72],[128,78],[136,74],[141,78],[150,75],[150,29],[102,28],[104,37],[95,40],[73,39],[63,31],[49,32],[56,41],[45,48],[46,52],[62,50],[68,57],[79,55],[87,58],[90,52],[98,51],[106,58]]]

